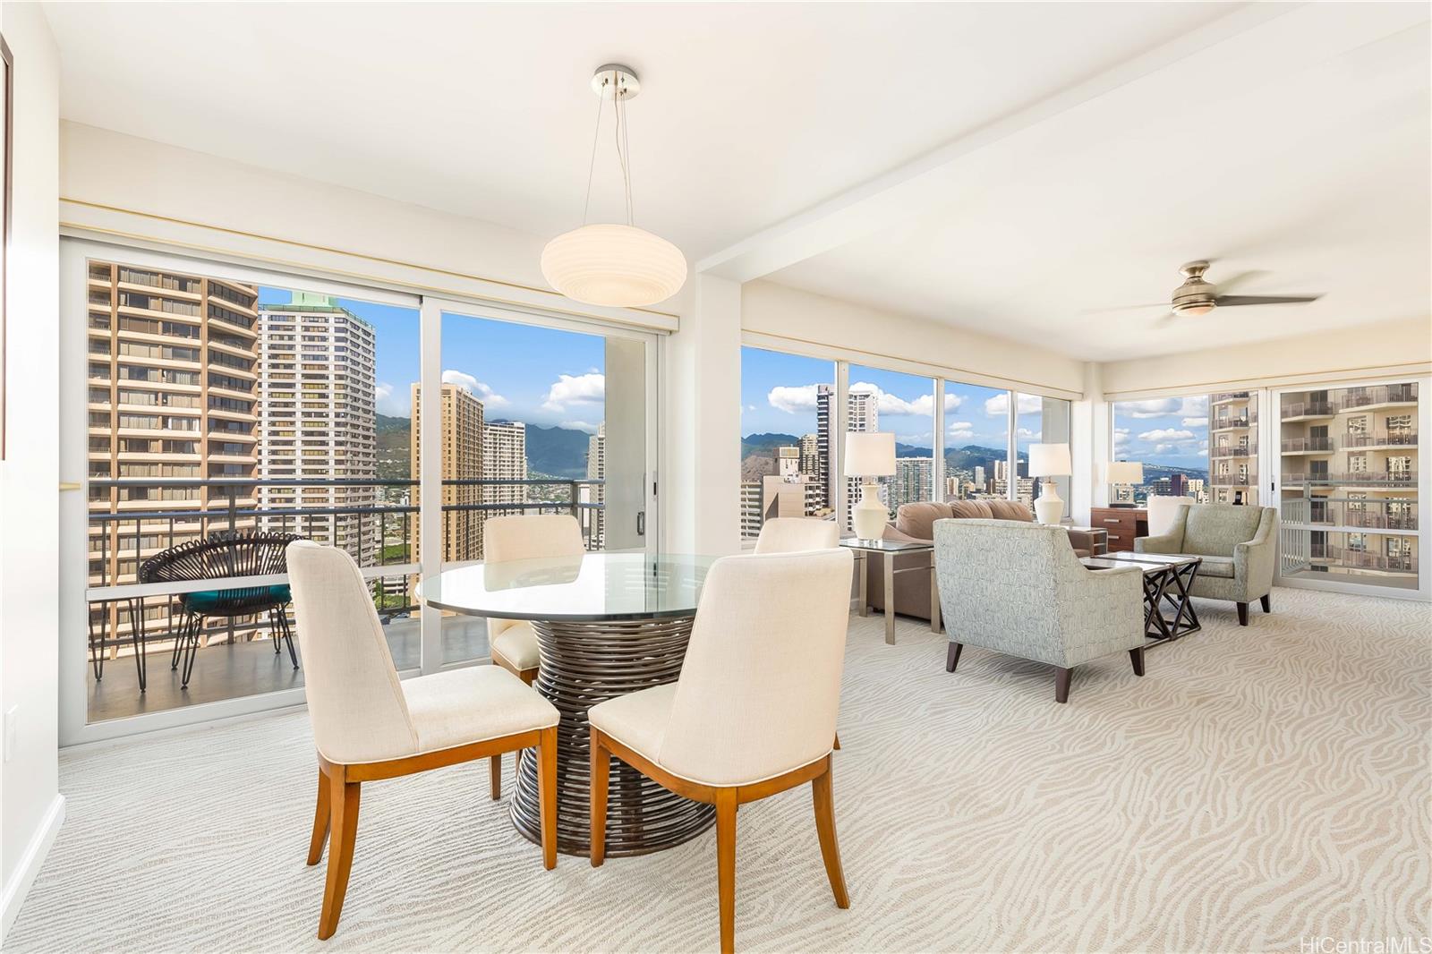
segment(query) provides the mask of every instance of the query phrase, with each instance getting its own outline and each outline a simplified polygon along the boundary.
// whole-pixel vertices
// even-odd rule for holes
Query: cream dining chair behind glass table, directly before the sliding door
[[[490,517],[483,524],[483,562],[538,560],[581,556],[587,551],[581,524],[566,513]],[[487,646],[493,662],[528,686],[537,680],[541,655],[537,633],[526,619],[488,619]],[[503,796],[503,756],[494,755],[488,772],[493,801]]]

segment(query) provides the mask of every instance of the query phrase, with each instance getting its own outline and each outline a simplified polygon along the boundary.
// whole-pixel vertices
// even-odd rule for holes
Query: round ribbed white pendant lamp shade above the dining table
[[[670,298],[686,284],[686,258],[633,225],[583,225],[541,251],[541,274],[573,301],[636,308]]]

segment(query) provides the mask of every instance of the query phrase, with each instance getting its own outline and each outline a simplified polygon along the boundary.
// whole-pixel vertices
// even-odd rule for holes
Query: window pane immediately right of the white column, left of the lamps
[[[766,517],[825,516],[833,500],[835,364],[740,350],[740,536]]]

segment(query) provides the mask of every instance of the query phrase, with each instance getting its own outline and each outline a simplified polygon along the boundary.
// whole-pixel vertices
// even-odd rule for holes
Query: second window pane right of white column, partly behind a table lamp
[[[935,382],[931,378],[852,364],[845,430],[895,434],[895,474],[874,480],[891,520],[901,504],[934,500]],[[859,501],[861,483],[848,478],[846,511]]]

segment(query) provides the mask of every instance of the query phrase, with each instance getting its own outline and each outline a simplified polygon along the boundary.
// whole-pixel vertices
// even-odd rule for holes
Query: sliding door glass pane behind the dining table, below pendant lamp
[[[481,560],[483,524],[513,514],[571,514],[589,550],[644,547],[643,339],[444,312],[441,398],[445,566]],[[444,662],[487,655],[485,620],[444,615]]]

